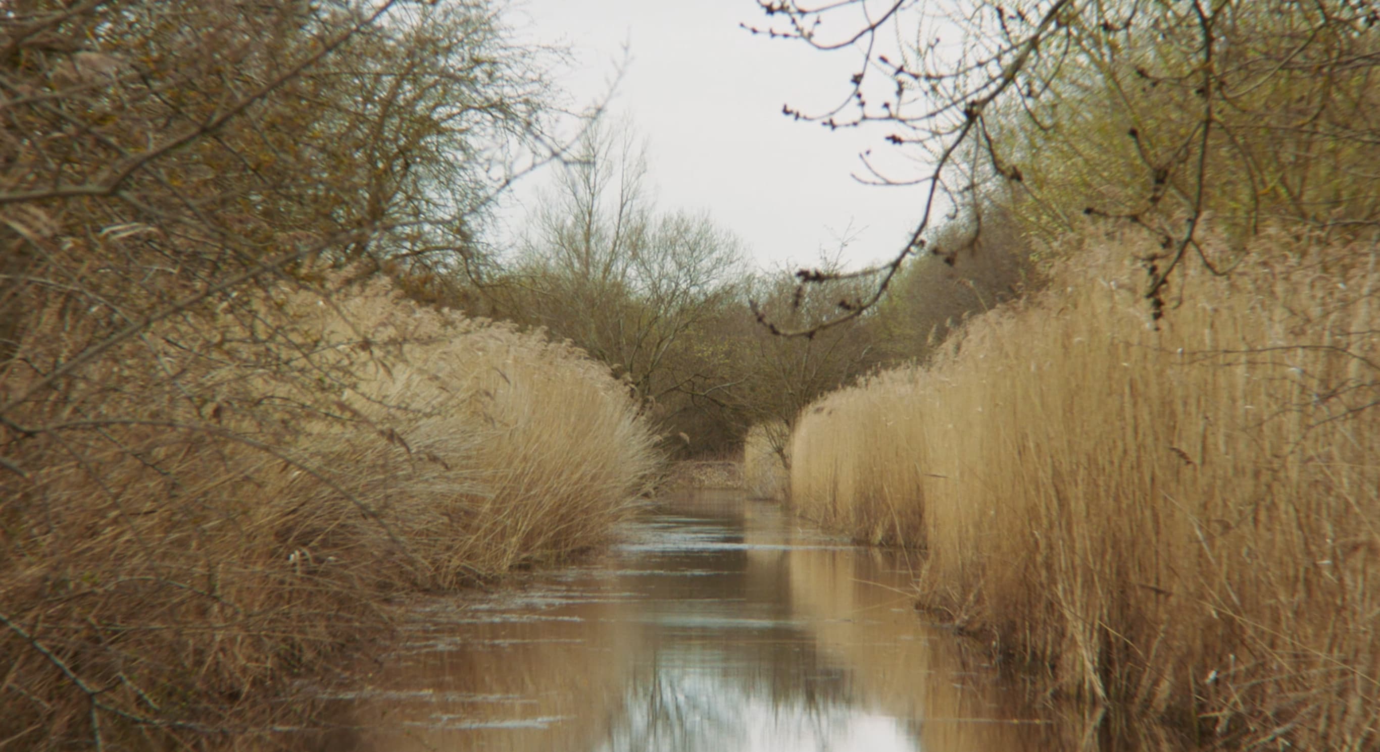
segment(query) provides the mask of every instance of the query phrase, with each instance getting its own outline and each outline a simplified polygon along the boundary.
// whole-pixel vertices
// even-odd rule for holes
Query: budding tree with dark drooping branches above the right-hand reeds
[[[752,33],[856,55],[840,103],[785,115],[831,128],[882,124],[885,141],[926,164],[862,179],[915,185],[925,203],[904,248],[851,272],[869,291],[835,315],[780,334],[810,335],[875,306],[926,247],[937,211],[977,206],[988,179],[1021,196],[1034,221],[1078,217],[1144,228],[1162,253],[1143,261],[1152,315],[1185,258],[1219,273],[1198,243],[1285,222],[1374,232],[1380,8],[1369,0],[759,0]],[[840,30],[842,29],[842,30]],[[898,41],[893,41],[898,40]],[[976,161],[974,161],[974,157]],[[931,248],[947,255],[955,248]],[[802,283],[839,279],[802,270]]]

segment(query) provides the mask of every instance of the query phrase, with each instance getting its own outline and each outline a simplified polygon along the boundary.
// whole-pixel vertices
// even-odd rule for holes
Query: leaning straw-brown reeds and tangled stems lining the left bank
[[[386,286],[239,295],[103,345],[34,293],[15,327],[0,748],[264,748],[308,722],[284,680],[397,596],[596,545],[636,506],[651,436],[578,350]],[[46,375],[75,352],[98,357]]]

